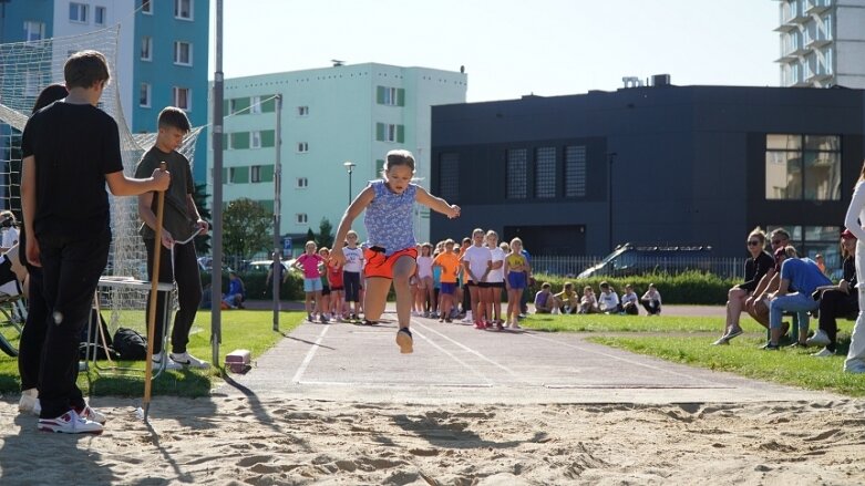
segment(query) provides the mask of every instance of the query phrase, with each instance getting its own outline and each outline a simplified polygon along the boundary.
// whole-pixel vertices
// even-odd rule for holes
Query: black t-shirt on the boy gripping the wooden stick
[[[114,118],[90,104],[53,103],[27,122],[21,152],[35,157],[37,237],[110,229],[105,175],[123,170]]]

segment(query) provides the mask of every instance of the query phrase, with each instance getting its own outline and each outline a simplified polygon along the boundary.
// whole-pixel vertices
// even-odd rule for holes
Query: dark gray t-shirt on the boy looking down
[[[157,147],[147,151],[135,167],[135,177],[145,178],[153,175],[153,170],[165,162],[172,174],[172,183],[165,192],[165,211],[163,214],[163,228],[172,234],[178,241],[185,241],[198,231],[195,215],[189,214],[186,206],[186,195],[195,192],[193,174],[189,169],[189,161],[177,152],[165,153]],[[151,205],[153,214],[157,214],[158,198],[153,198]],[[138,234],[146,239],[156,237],[153,229],[146,224],[141,225]]]

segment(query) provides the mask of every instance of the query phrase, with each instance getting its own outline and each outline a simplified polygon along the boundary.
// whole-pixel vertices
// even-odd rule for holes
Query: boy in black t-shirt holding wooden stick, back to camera
[[[63,66],[65,100],[37,112],[21,141],[21,206],[27,259],[41,266],[48,323],[39,378],[39,428],[102,432],[105,415],[75,385],[79,340],[111,245],[107,183],[115,196],[168,187],[166,172],[123,174],[117,124],[96,107],[109,82],[105,56],[72,54]]]

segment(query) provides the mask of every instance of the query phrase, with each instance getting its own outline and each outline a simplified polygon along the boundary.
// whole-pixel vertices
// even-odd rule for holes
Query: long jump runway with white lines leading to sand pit
[[[842,399],[593,344],[583,333],[478,331],[412,318],[414,353],[400,354],[395,318],[385,313],[391,322],[375,327],[305,322],[215,392],[419,404]]]

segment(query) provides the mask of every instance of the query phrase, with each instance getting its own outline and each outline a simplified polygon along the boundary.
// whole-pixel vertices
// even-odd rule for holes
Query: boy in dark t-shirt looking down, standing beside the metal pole
[[[159,133],[156,143],[144,154],[135,169],[135,176],[142,177],[159,167],[167,165],[172,174],[172,183],[165,192],[165,209],[163,211],[162,245],[159,251],[159,281],[177,282],[177,313],[174,316],[172,330],[172,352],[162,349],[165,313],[164,296],[156,299],[156,330],[153,340],[153,364],[157,368],[165,364],[169,370],[183,366],[208,368],[209,363],[202,361],[186,351],[189,342],[189,329],[195,321],[198,304],[202,303],[202,276],[198,270],[198,258],[195,255],[193,238],[207,232],[207,221],[198,215],[193,193],[193,173],[189,161],[177,152],[184,136],[189,133],[189,120],[183,110],[168,106],[159,112]],[[156,211],[158,198],[154,193],[138,196],[138,216],[144,221],[141,236],[147,247],[147,276],[153,280],[153,257],[156,240]],[[163,293],[163,292],[161,292]],[[150,312],[151,299],[147,299]],[[150,313],[147,313],[150,316]],[[167,355],[166,355],[167,354]]]

